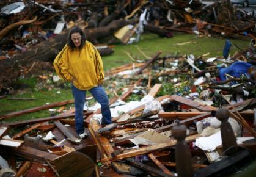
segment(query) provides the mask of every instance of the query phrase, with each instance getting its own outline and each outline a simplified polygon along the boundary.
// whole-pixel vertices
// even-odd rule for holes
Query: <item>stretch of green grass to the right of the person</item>
[[[189,42],[192,43],[175,46],[177,43]],[[233,44],[240,46],[241,49],[246,49],[249,46],[249,40],[230,40]],[[126,63],[133,62],[130,57],[125,54],[128,52],[134,59],[145,59],[139,52],[137,47],[141,49],[147,56],[154,56],[156,52],[163,51],[161,56],[175,56],[177,54],[194,54],[195,56],[202,56],[210,52],[207,57],[222,57],[222,50],[225,45],[225,39],[214,37],[197,37],[190,34],[175,34],[172,38],[161,38],[155,34],[144,34],[138,43],[132,45],[116,45],[114,54],[103,57],[105,70],[118,67]],[[235,45],[232,45],[230,54],[238,51]]]

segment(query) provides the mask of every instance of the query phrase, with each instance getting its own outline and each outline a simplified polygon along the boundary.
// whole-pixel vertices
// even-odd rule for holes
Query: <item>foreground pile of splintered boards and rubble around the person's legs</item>
[[[64,107],[73,99],[2,115],[4,120],[53,107],[61,113],[2,121],[1,156],[10,165],[2,159],[0,172],[228,176],[255,161],[254,48],[227,59],[160,55],[109,71],[105,82],[107,92],[113,93],[113,123],[101,126],[99,105],[86,104],[87,139],[76,136],[75,109]],[[131,100],[134,95],[137,101]],[[13,134],[15,127],[20,131]]]

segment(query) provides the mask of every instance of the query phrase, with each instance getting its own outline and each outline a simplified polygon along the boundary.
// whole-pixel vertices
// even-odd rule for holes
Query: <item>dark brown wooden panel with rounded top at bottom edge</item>
[[[59,176],[91,176],[95,170],[95,163],[84,153],[73,151],[59,156],[53,161]]]

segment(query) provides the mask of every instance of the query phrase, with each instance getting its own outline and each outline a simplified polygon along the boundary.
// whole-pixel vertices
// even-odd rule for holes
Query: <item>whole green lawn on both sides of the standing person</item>
[[[177,45],[178,43],[192,42],[186,45]],[[233,44],[240,46],[241,49],[246,49],[249,46],[249,40],[230,40]],[[163,51],[161,56],[177,56],[183,54],[194,54],[195,56],[201,56],[206,53],[210,53],[207,57],[222,57],[222,49],[225,45],[225,39],[214,37],[197,37],[196,35],[189,34],[175,34],[172,38],[161,38],[155,34],[144,34],[138,43],[132,45],[115,45],[114,54],[111,56],[103,57],[104,70],[109,70],[126,63],[131,63],[132,60],[127,56],[125,52],[128,52],[134,59],[145,59],[145,57],[139,52],[139,49],[143,51],[147,56],[153,56],[157,51]],[[138,49],[139,48],[139,49]],[[235,45],[232,45],[230,50],[231,54],[238,51]],[[37,78],[37,76],[35,76]],[[18,90],[15,95],[10,97],[23,97],[23,98],[36,98],[33,101],[14,101],[7,98],[0,99],[0,115],[15,112],[18,110],[29,109],[32,107],[43,106],[46,103],[55,103],[57,101],[64,101],[72,99],[71,89],[69,86],[64,88],[55,87],[52,89],[35,89],[33,85],[37,82],[37,79],[30,78],[28,81],[34,82],[29,84],[29,88],[24,90]],[[27,82],[26,79],[24,82]],[[66,84],[68,85],[68,84]],[[57,93],[60,91],[60,93]],[[70,105],[72,106],[72,105]],[[66,106],[67,107],[67,106]],[[56,108],[57,109],[57,108]],[[19,117],[9,118],[4,121],[20,121],[31,118],[49,117],[51,113],[49,110],[42,110],[32,114],[21,115]],[[2,120],[3,121],[3,120]]]

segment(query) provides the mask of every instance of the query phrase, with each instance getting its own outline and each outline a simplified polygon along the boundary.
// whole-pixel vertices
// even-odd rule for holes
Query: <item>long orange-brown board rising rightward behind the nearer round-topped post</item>
[[[196,137],[198,137],[198,136],[199,136],[198,134],[188,136],[188,137],[186,137],[186,142],[191,142],[192,140],[195,140]],[[119,154],[115,157],[106,157],[104,159],[101,159],[101,162],[103,162],[103,163],[112,162],[112,161],[117,161],[117,160],[120,160],[120,159],[126,159],[126,158],[129,158],[129,157],[138,156],[138,155],[141,155],[141,154],[151,153],[151,152],[157,151],[157,150],[163,150],[165,148],[169,148],[171,146],[174,146],[176,144],[176,142],[177,142],[176,140],[170,140],[167,143],[158,143],[156,145],[145,146],[145,147],[139,148],[137,150],[133,150],[133,151],[129,151],[129,152]]]

